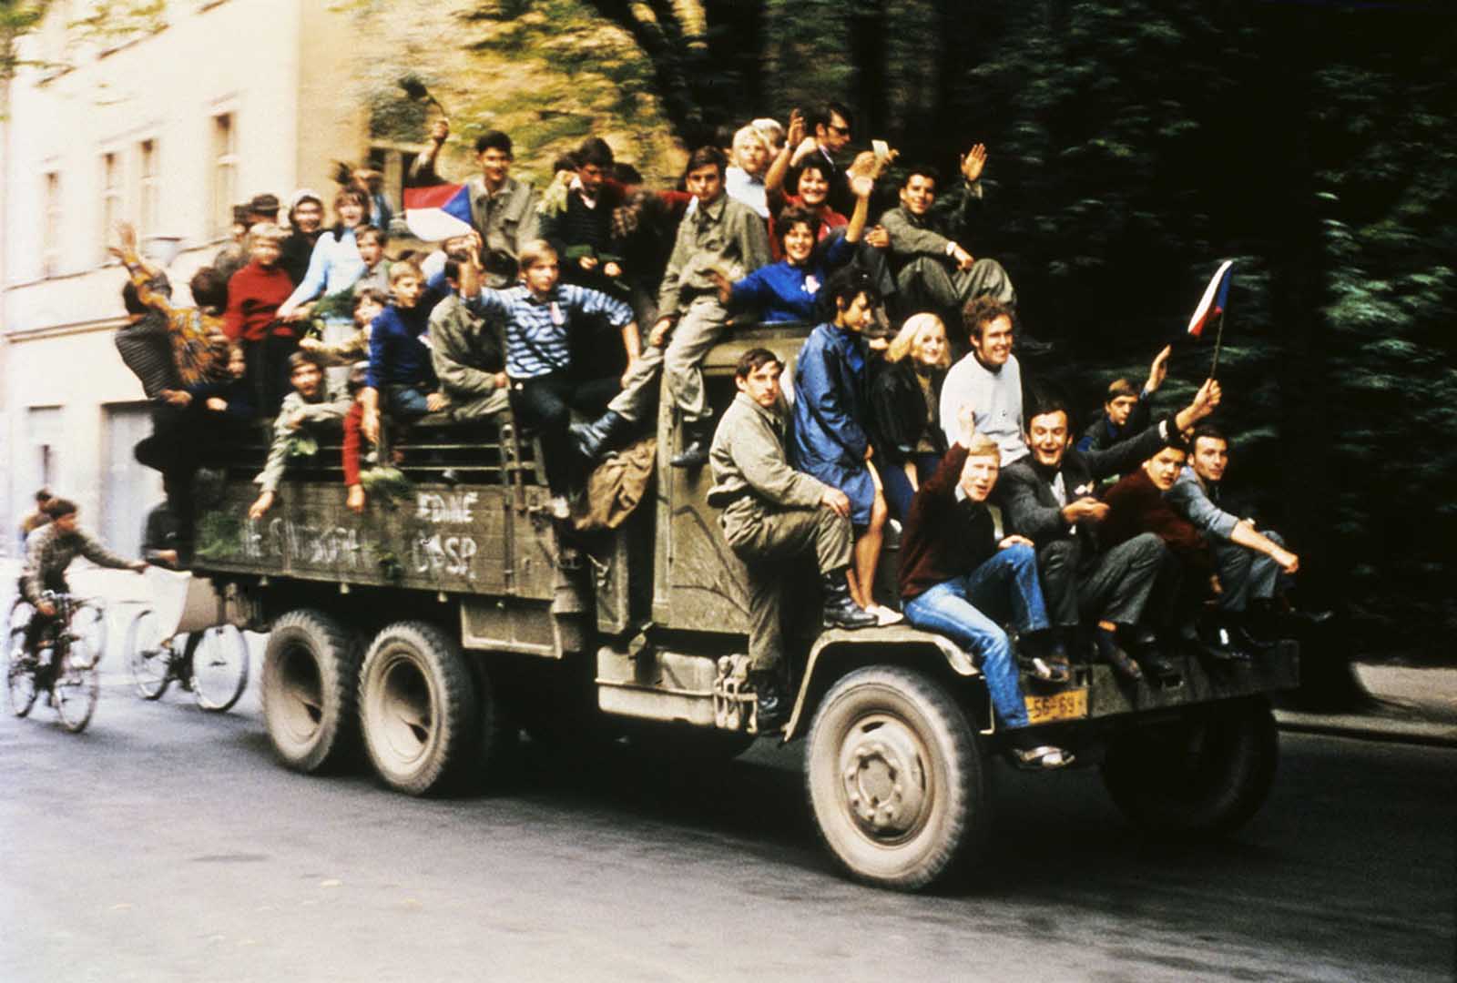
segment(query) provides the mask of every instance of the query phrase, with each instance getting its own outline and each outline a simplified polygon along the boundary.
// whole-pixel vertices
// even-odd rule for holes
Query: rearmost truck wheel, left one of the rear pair
[[[358,737],[358,668],[354,638],[323,612],[274,622],[261,696],[274,754],[287,767],[309,775],[348,757]]]

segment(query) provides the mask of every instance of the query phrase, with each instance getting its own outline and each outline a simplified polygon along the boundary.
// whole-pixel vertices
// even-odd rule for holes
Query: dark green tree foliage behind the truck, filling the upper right
[[[967,245],[1007,264],[1026,326],[1058,342],[1029,373],[1090,411],[1236,258],[1231,482],[1368,651],[1438,654],[1432,628],[1457,622],[1457,19],[1400,3],[590,6],[638,41],[685,141],[828,96],[857,109],[860,141],[943,173],[985,141],[989,220]],[[1211,347],[1176,348],[1160,405],[1192,392]]]

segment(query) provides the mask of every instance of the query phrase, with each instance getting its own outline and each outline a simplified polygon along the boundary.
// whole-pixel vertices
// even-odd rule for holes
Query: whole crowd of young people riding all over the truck
[[[436,122],[412,182],[441,182],[449,138]],[[159,403],[138,459],[163,472],[185,527],[189,435],[272,419],[256,518],[310,443],[300,434],[342,424],[347,501],[363,510],[358,449],[386,425],[510,412],[539,437],[564,518],[581,476],[645,434],[661,395],[680,424],[672,465],[711,469],[710,502],[749,568],[747,682],[762,719],[787,702],[772,565],[814,555],[826,626],[906,619],[949,635],[981,661],[1017,760],[1059,767],[1069,754],[1020,733],[1014,651],[1049,683],[1084,654],[1129,682],[1177,671],[1170,655],[1185,642],[1249,658],[1278,631],[1298,558],[1221,508],[1228,440],[1205,422],[1218,383],[1148,424],[1167,350],[1142,389],[1109,389],[1077,444],[1064,402],[1024,405],[1036,386],[1014,351],[1048,347],[1020,332],[1007,269],[972,252],[983,146],[943,182],[883,144],[851,153],[852,138],[839,103],[782,127],[755,119],[694,149],[664,189],[589,138],[538,189],[511,176],[510,137],[488,131],[466,181],[469,233],[390,259],[390,202],[367,172],[345,178],[329,227],[321,195],[296,192],[284,226],[262,194],[194,277],[191,309],[170,306],[124,229],[134,323],[118,347]],[[877,216],[890,173],[895,201]],[[749,351],[715,418],[702,361],[743,322],[812,331],[793,386],[778,355]],[[138,338],[153,354],[163,339],[168,357],[141,357]],[[889,530],[900,550],[886,596],[876,574]]]

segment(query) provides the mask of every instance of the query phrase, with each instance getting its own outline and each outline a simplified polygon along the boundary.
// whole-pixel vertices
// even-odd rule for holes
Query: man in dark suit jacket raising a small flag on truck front
[[[1002,473],[1008,521],[1037,546],[1053,626],[1067,635],[1084,616],[1096,620],[1099,655],[1131,680],[1141,679],[1142,670],[1119,645],[1116,632],[1131,633],[1142,617],[1164,545],[1154,533],[1141,533],[1100,550],[1097,524],[1109,508],[1093,491],[1103,478],[1138,467],[1218,405],[1220,383],[1211,379],[1171,419],[1166,417],[1107,450],[1080,451],[1072,447],[1067,403],[1045,399],[1027,417],[1032,453]]]

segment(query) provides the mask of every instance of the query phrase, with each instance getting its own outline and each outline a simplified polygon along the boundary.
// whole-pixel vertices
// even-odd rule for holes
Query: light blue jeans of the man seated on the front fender
[[[1002,727],[1027,725],[1011,641],[1000,620],[1010,616],[1020,633],[1048,629],[1048,610],[1037,584],[1037,555],[1030,546],[997,550],[970,574],[943,581],[908,600],[905,613],[916,628],[940,632],[979,658],[992,709]]]

